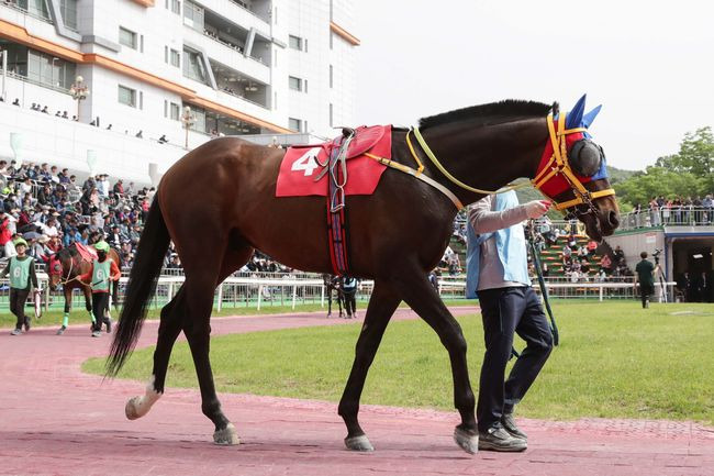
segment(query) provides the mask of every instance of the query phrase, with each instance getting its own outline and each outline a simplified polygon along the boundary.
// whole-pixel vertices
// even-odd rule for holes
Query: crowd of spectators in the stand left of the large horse
[[[0,180],[3,257],[14,254],[13,240],[19,236],[27,241],[35,259],[76,242],[90,245],[105,240],[125,266],[132,265],[154,188],[125,185],[122,179],[112,185],[107,174],[80,185],[67,168],[15,160],[0,160]]]

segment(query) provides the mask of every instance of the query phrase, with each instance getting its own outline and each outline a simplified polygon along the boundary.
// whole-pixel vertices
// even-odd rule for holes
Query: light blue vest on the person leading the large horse
[[[495,211],[503,211],[518,204],[515,191],[495,196]],[[476,298],[476,290],[479,286],[479,272],[481,256],[481,244],[495,236],[498,256],[487,256],[486,259],[498,258],[503,266],[503,280],[523,283],[531,286],[528,277],[528,256],[526,250],[525,233],[521,223],[513,226],[498,230],[493,233],[477,235],[469,221],[467,225],[467,254],[466,254],[466,297]]]

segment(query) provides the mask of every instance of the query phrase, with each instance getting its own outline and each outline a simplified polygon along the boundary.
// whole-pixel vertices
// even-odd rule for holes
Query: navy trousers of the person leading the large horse
[[[528,391],[550,355],[553,334],[531,286],[487,289],[478,295],[486,354],[476,414],[479,431],[486,432],[501,421],[504,412],[512,412]],[[504,383],[514,333],[526,342],[526,347]]]

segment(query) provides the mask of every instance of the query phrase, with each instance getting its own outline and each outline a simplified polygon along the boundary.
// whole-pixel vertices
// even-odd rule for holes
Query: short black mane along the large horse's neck
[[[502,124],[523,119],[543,118],[550,110],[556,111],[557,109],[557,102],[548,106],[543,102],[506,99],[422,118],[419,120],[419,129],[425,130],[435,125],[461,121],[476,122],[477,125]]]

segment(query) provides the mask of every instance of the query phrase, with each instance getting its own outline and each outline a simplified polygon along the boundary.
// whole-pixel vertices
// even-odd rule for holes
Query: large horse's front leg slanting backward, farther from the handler
[[[347,425],[345,445],[349,450],[375,450],[357,419],[359,398],[365,388],[365,380],[369,367],[375,359],[375,354],[377,353],[377,348],[379,348],[382,335],[384,335],[384,329],[387,329],[387,324],[400,301],[399,295],[388,285],[381,283],[375,285],[375,290],[367,306],[365,322],[357,339],[355,361],[337,410]]]

